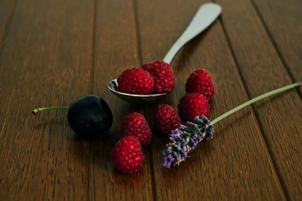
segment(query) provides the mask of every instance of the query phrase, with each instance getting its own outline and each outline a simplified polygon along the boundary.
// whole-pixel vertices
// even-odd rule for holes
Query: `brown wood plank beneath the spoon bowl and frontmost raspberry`
[[[132,0],[97,2],[94,93],[103,97],[112,109],[114,122],[106,142],[95,141],[90,156],[91,200],[150,200],[149,148],[139,172],[119,173],[111,161],[111,151],[119,140],[120,126],[127,113],[144,115],[143,106],[135,106],[115,97],[107,83],[127,68],[138,66],[137,38]]]

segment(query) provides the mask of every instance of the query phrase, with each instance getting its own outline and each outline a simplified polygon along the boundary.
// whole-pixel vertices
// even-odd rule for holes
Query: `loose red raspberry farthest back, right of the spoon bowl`
[[[192,72],[186,82],[186,92],[198,92],[210,100],[215,94],[211,75],[204,69],[198,69]]]

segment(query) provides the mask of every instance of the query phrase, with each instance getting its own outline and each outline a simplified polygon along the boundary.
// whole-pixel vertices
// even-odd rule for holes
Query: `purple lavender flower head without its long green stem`
[[[187,122],[187,126],[180,125],[178,129],[171,132],[171,142],[163,151],[164,166],[170,168],[185,161],[188,153],[196,148],[197,144],[204,138],[213,138],[213,126],[205,116],[197,116],[195,124]]]

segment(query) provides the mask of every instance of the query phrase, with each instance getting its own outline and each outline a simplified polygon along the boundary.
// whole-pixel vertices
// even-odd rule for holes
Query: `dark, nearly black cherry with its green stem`
[[[108,104],[96,95],[86,95],[74,100],[69,107],[34,109],[32,114],[59,109],[68,110],[67,121],[70,128],[83,138],[104,137],[112,126],[113,115]]]

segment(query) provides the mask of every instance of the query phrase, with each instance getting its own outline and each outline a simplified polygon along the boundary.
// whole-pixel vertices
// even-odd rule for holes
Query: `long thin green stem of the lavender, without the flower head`
[[[259,95],[259,96],[255,97],[255,98],[249,100],[248,102],[246,102],[246,103],[244,103],[244,104],[242,104],[242,105],[240,105],[240,106],[238,106],[238,107],[236,107],[236,108],[230,110],[229,112],[226,112],[226,113],[224,113],[223,115],[217,117],[216,119],[214,119],[214,120],[211,122],[210,125],[213,125],[213,124],[219,122],[219,121],[222,120],[223,118],[228,117],[229,115],[231,115],[231,114],[233,114],[233,113],[235,113],[235,112],[237,112],[237,111],[243,109],[244,107],[246,107],[246,106],[248,106],[248,105],[251,105],[251,104],[255,103],[256,101],[258,101],[258,100],[260,100],[260,99],[262,99],[262,98],[265,98],[265,97],[270,96],[270,95],[273,95],[273,94],[275,94],[275,93],[279,93],[279,92],[281,92],[281,91],[285,91],[285,90],[288,90],[288,89],[291,89],[291,88],[294,88],[294,87],[300,86],[300,85],[302,85],[302,82],[296,82],[296,83],[294,83],[294,84],[290,84],[290,85],[287,85],[287,86],[283,86],[283,87],[281,87],[281,88],[278,88],[278,89],[272,90],[272,91],[270,91],[270,92],[264,93],[264,94],[262,94],[262,95]]]

